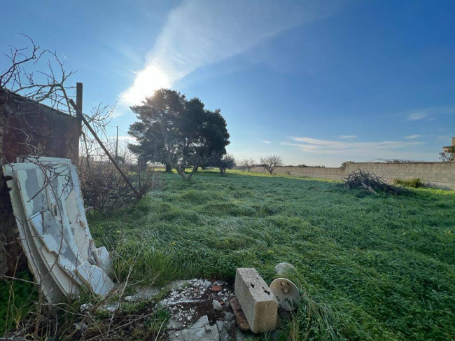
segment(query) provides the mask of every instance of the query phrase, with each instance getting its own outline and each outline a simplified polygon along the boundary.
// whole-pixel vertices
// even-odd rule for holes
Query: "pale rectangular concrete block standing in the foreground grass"
[[[253,333],[265,332],[276,327],[278,302],[255,268],[237,268],[235,295]]]

